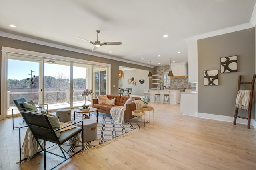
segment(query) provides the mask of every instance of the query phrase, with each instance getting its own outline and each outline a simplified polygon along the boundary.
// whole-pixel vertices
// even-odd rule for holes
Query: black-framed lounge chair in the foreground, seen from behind
[[[54,155],[59,156],[61,158],[64,158],[64,161],[60,162],[58,165],[51,168],[51,169],[54,169],[57,166],[59,166],[60,164],[62,164],[63,162],[65,162],[66,160],[68,160],[69,158],[71,158],[72,156],[74,156],[76,153],[78,153],[78,152],[80,152],[84,149],[84,133],[83,133],[84,132],[84,129],[83,129],[84,122],[83,122],[83,120],[68,125],[68,126],[72,126],[72,125],[75,125],[77,123],[82,122],[82,128],[81,127],[74,127],[72,129],[62,131],[62,132],[60,132],[60,137],[58,138],[55,131],[66,128],[68,126],[54,130],[50,121],[49,121],[49,119],[48,119],[48,117],[47,117],[47,115],[45,115],[45,114],[33,113],[33,112],[30,112],[30,111],[21,111],[21,115],[24,118],[27,126],[30,128],[32,134],[34,135],[34,137],[37,141],[37,143],[40,145],[40,148],[42,149],[39,152],[44,151],[44,169],[45,170],[46,170],[46,152],[50,153],[50,154],[54,154]],[[19,137],[20,137],[20,129],[21,128],[19,128]],[[64,153],[66,151],[64,149],[62,149],[61,145],[63,143],[65,143],[66,141],[68,141],[69,139],[71,139],[72,137],[74,137],[76,134],[80,133],[80,132],[82,132],[82,149],[78,150],[75,154],[72,154],[71,156],[66,156],[65,153]],[[40,144],[38,139],[43,140],[44,146],[42,146]],[[46,141],[49,141],[49,142],[52,142],[52,143],[55,143],[55,144],[46,148]],[[47,149],[49,149],[49,148],[51,148],[55,145],[58,145],[58,147],[60,148],[63,156],[58,155],[56,153],[53,153],[53,152],[50,152],[50,151],[47,150]],[[37,152],[36,154],[38,154],[39,152]],[[68,153],[66,152],[66,154],[68,154]],[[23,160],[21,160],[21,144],[20,144],[20,163]]]

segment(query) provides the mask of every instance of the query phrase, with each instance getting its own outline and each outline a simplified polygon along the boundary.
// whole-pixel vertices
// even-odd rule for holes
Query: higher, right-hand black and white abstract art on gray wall
[[[237,72],[237,56],[220,58],[220,73]]]

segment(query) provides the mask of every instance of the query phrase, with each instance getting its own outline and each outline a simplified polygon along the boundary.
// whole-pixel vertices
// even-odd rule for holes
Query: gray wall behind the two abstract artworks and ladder
[[[238,57],[238,72],[220,73],[220,57],[234,55]],[[218,70],[218,86],[204,86],[204,70]],[[254,28],[198,40],[198,112],[234,116],[238,75],[242,75],[242,81],[249,82],[253,74]],[[247,115],[248,111],[239,110],[238,113]]]

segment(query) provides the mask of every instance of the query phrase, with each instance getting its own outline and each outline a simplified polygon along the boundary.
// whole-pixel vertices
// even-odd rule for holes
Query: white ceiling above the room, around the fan
[[[191,37],[250,23],[256,0],[0,2],[0,36],[22,35],[84,49],[88,54],[142,65],[152,61],[151,66],[162,66],[169,64],[170,58],[176,62],[188,61],[186,40]],[[11,24],[16,28],[10,27]],[[94,42],[96,30],[100,30],[100,42],[119,41],[122,45],[104,45],[92,53],[91,43],[75,38]]]

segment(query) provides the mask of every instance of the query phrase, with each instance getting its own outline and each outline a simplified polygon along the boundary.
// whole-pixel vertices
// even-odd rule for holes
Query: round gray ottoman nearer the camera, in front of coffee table
[[[84,142],[93,141],[97,138],[97,119],[84,119]],[[82,122],[77,123],[76,126],[82,127]],[[80,132],[82,133],[82,132]],[[81,134],[82,137],[82,134]]]

